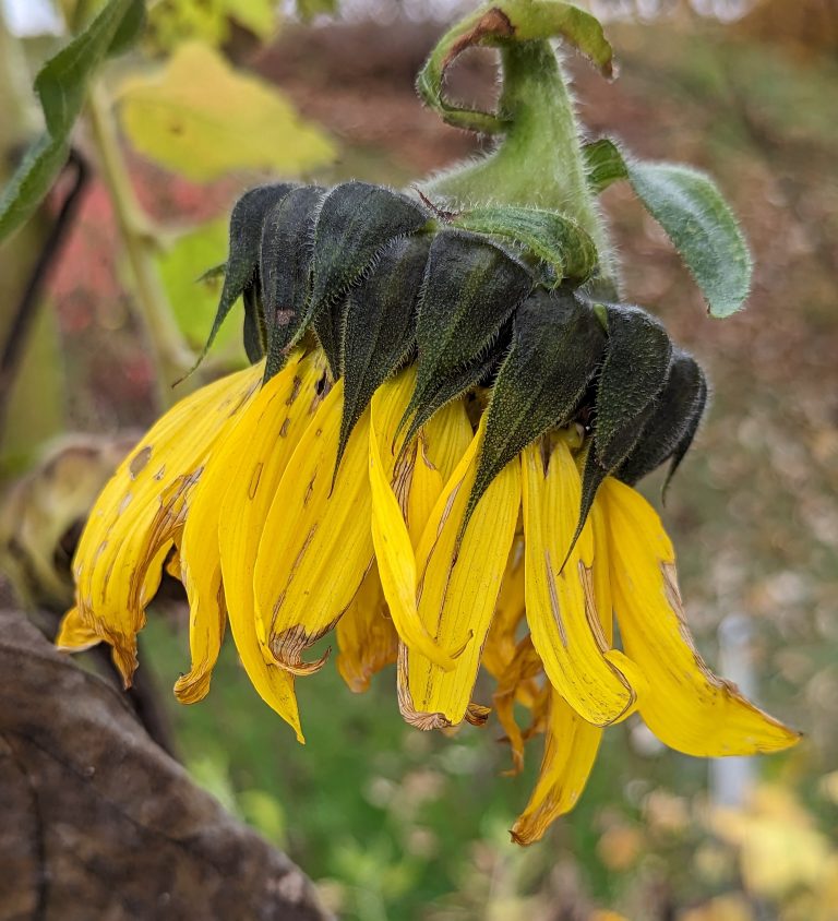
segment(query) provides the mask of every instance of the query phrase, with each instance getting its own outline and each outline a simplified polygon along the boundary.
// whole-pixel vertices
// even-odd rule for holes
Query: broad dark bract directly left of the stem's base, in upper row
[[[352,181],[327,192],[314,230],[312,316],[346,294],[388,243],[428,222],[416,202],[381,186]]]

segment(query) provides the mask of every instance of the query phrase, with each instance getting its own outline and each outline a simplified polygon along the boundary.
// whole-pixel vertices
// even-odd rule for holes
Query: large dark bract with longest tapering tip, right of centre
[[[487,409],[486,438],[466,521],[500,471],[528,444],[573,418],[602,360],[606,335],[573,294],[538,290],[517,310],[512,347]]]

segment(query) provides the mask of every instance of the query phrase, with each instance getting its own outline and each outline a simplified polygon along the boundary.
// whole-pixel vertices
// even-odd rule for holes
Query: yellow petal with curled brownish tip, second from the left
[[[242,457],[252,451],[254,424],[265,424],[266,407],[278,407],[283,417],[279,426],[274,424],[274,438],[277,441],[279,463],[283,466],[287,463],[291,452],[283,450],[285,445],[277,433],[287,418],[287,414],[282,411],[283,398],[291,393],[295,381],[300,380],[299,360],[300,354],[296,352],[228,427],[208,458],[191,497],[179,550],[180,578],[189,599],[189,647],[192,657],[190,671],[175,685],[175,696],[181,704],[194,704],[206,696],[224,639],[227,605],[222,585],[218,543],[222,501],[230,483],[239,476]],[[314,374],[315,370],[312,369],[310,375]],[[278,403],[277,396],[280,397]],[[246,424],[249,417],[251,424]],[[241,494],[238,498],[241,501]],[[252,602],[249,607],[252,613]]]

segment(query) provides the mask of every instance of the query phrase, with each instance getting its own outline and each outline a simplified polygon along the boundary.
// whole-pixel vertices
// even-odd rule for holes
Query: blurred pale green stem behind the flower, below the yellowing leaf
[[[194,363],[172,315],[157,271],[155,244],[128,171],[101,85],[95,85],[88,100],[89,122],[105,184],[117,217],[122,243],[134,276],[134,294],[145,325],[157,371],[160,403],[172,402],[171,385]]]

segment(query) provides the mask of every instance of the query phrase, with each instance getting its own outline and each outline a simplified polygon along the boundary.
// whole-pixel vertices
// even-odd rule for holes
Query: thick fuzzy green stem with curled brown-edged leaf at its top
[[[588,13],[560,0],[493,0],[450,29],[431,52],[417,88],[452,124],[499,137],[487,156],[435,178],[424,189],[454,207],[507,204],[559,212],[594,240],[601,279],[616,286],[615,260],[588,182],[568,81],[549,38],[576,45],[606,74],[611,46]],[[498,111],[450,104],[445,71],[465,48],[496,47],[503,88]]]

